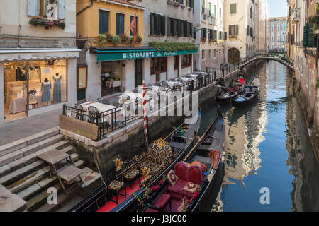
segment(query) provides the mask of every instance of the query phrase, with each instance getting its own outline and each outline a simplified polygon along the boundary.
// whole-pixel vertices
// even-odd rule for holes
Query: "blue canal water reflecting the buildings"
[[[255,69],[261,83],[254,105],[222,107],[226,126],[225,175],[206,211],[318,211],[319,166],[292,73],[276,61]],[[251,78],[252,75],[247,75]],[[201,135],[216,118],[203,110]]]

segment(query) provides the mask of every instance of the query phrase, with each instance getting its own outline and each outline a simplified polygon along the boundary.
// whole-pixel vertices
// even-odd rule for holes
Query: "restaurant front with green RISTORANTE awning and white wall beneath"
[[[152,47],[96,47],[96,59],[101,62],[101,93],[123,92],[142,85],[191,73],[195,51],[164,52]],[[111,85],[110,85],[111,84]]]

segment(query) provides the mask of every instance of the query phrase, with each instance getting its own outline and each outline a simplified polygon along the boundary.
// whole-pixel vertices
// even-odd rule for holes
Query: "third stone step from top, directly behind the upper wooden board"
[[[54,148],[58,150],[62,150],[63,148],[66,148],[67,146],[69,146],[69,142],[60,141],[58,143],[50,145],[47,148],[43,148],[42,150],[38,150],[35,153],[27,155],[26,157],[21,157],[20,159],[16,161],[10,162],[9,164],[0,167],[0,177],[4,177],[6,174],[10,174],[11,172],[14,172],[17,169],[20,169],[26,165],[30,165],[33,162],[37,162],[37,160],[39,160],[37,156],[40,155],[41,153],[44,153],[48,150],[52,150]]]

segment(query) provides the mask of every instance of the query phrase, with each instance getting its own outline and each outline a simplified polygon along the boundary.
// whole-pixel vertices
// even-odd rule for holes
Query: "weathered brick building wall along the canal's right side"
[[[308,126],[318,134],[319,126],[319,70],[318,34],[319,10],[317,1],[289,1],[290,40],[288,56],[294,61],[296,91],[304,100],[303,109]]]

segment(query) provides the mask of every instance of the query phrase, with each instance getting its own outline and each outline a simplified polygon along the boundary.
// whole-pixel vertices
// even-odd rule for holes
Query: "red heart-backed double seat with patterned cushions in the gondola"
[[[200,184],[203,182],[203,168],[199,165],[189,167],[185,162],[177,162],[175,173],[178,179],[175,184],[169,183],[169,194],[176,199],[193,198],[194,192],[200,188]]]

